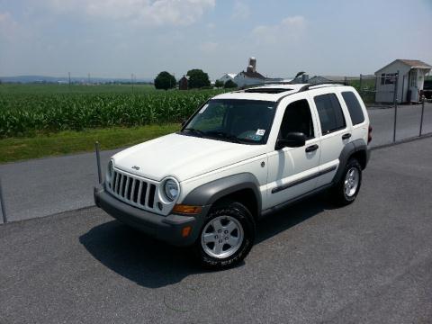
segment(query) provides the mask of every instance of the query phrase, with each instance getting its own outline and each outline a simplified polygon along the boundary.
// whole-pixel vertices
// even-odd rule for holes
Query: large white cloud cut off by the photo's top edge
[[[215,0],[46,0],[59,13],[129,21],[148,26],[189,25],[214,7]]]

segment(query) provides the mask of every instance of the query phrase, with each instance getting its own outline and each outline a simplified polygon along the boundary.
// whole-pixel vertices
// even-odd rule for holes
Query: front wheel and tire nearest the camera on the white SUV
[[[243,204],[218,204],[204,221],[194,243],[195,254],[201,265],[211,270],[238,265],[250,252],[255,232],[255,221]]]

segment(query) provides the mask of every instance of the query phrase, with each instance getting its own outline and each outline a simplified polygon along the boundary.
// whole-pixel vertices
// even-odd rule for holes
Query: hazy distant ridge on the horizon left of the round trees
[[[67,83],[67,76],[0,76],[2,82],[14,82],[14,83]],[[70,81],[73,83],[87,83],[88,77],[86,76],[72,76]],[[136,78],[135,83],[141,82],[153,82],[154,79],[150,77]],[[90,83],[130,83],[130,78],[120,77],[90,77]]]

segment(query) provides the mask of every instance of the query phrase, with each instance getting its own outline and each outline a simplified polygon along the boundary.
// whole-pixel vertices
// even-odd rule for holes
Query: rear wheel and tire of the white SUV
[[[333,197],[338,205],[346,206],[356,200],[362,184],[362,166],[355,158],[348,160],[344,173],[333,188]]]

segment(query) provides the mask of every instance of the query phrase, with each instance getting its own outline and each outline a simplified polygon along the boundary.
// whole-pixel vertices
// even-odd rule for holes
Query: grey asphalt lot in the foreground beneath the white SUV
[[[258,224],[202,272],[94,207],[0,226],[0,323],[430,323],[432,139],[375,150],[362,190]]]

